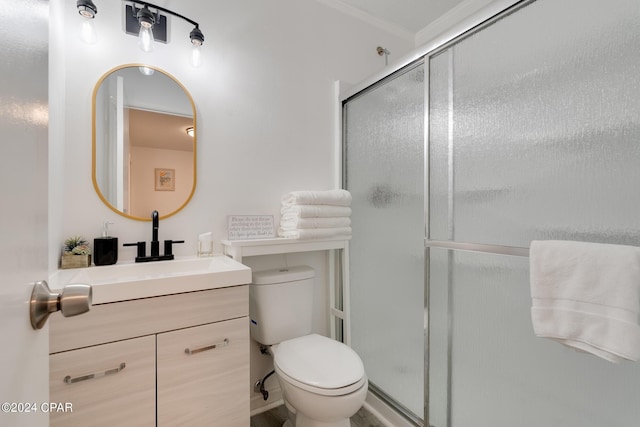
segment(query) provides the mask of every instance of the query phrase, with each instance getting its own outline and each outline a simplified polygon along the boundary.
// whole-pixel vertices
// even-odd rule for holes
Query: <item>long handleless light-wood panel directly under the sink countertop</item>
[[[248,301],[244,285],[94,305],[77,317],[54,313],[49,353],[247,316]]]

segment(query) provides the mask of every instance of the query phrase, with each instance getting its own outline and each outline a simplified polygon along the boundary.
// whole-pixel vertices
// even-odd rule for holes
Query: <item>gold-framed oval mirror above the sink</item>
[[[196,109],[186,88],[146,65],[116,67],[93,91],[93,186],[127,218],[184,208],[196,188]]]

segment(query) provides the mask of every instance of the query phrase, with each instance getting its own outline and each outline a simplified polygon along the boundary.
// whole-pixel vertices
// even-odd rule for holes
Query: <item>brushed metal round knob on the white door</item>
[[[91,309],[91,285],[73,283],[62,292],[51,292],[47,282],[37,282],[31,292],[29,317],[33,329],[41,329],[51,313],[60,310],[64,317],[77,316]]]

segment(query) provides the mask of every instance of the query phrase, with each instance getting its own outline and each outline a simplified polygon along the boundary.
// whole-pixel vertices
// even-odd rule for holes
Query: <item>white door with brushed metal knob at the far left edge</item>
[[[48,425],[49,329],[29,321],[47,278],[48,16],[0,0],[0,425]]]

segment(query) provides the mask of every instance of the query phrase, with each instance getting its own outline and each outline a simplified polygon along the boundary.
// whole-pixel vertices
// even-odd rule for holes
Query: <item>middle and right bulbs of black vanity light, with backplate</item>
[[[204,43],[204,35],[197,22],[152,3],[131,0],[122,1],[125,3],[125,32],[137,35],[140,40],[140,48],[145,52],[153,50],[154,40],[167,43],[167,17],[165,15],[172,15],[192,24],[194,27],[189,33],[189,40],[191,40],[191,45],[193,46],[191,64],[194,67],[200,66],[202,63],[201,46]]]

